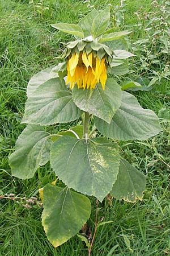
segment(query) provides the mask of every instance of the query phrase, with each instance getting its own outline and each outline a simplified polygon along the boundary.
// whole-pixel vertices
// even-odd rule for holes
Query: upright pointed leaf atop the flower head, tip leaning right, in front
[[[92,22],[91,35],[94,36],[94,38],[97,38],[97,36],[103,34],[105,29],[108,27],[109,20],[110,8],[107,8],[101,11],[97,16],[95,16]]]

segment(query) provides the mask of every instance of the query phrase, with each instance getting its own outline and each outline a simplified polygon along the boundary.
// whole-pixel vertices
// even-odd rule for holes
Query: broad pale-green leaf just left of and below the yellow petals
[[[64,80],[54,78],[41,84],[28,98],[22,123],[66,123],[79,118],[80,114]]]

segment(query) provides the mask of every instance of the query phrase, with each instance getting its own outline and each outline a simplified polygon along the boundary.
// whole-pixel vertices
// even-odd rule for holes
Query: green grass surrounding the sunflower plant
[[[29,1],[0,0],[0,194],[14,193],[20,197],[38,196],[38,189],[55,179],[49,165],[39,168],[29,180],[11,176],[8,155],[14,151],[15,141],[24,129],[20,120],[26,100],[25,89],[29,78],[43,68],[56,65],[62,52],[61,42],[71,36],[57,32],[50,23],[73,22],[87,14],[88,3],[74,0],[44,1],[43,13]],[[143,12],[152,10],[148,0],[126,0],[121,9],[125,21],[121,26],[134,30],[133,38],[145,35],[144,29],[135,27],[134,15],[141,6]],[[90,5],[102,9],[113,1],[91,1]],[[114,6],[120,1],[114,1]],[[48,9],[45,9],[48,7]],[[75,11],[76,10],[76,11]],[[112,10],[113,11],[113,10]],[[112,16],[113,17],[113,16]],[[113,21],[113,19],[112,19]],[[150,92],[135,92],[143,108],[160,113],[163,132],[144,142],[120,142],[124,156],[130,163],[147,174],[143,201],[135,204],[113,200],[99,205],[99,220],[113,220],[97,230],[92,255],[163,256],[170,255],[170,196],[169,196],[169,97],[168,80],[162,80]],[[62,126],[56,127],[60,129]],[[54,249],[48,242],[41,225],[42,208],[39,204],[24,208],[24,200],[0,201],[0,255],[5,256],[85,256],[87,249],[78,237]],[[94,210],[88,224],[94,228]],[[116,247],[117,245],[117,247]]]

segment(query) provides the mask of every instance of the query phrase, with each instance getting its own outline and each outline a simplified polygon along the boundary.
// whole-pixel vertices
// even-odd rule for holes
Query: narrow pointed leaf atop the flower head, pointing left
[[[76,24],[56,23],[56,24],[51,24],[51,26],[54,28],[57,28],[57,30],[60,30],[62,32],[79,36],[80,38],[84,37],[84,32],[82,28]]]

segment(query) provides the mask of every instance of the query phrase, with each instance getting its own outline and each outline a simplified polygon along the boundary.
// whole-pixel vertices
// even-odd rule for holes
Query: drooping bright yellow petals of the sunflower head
[[[74,88],[75,83],[78,88],[94,89],[100,81],[104,90],[105,81],[107,80],[107,64],[105,57],[99,59],[91,52],[87,55],[86,52],[73,53],[67,61],[67,81],[70,82],[70,89]]]

